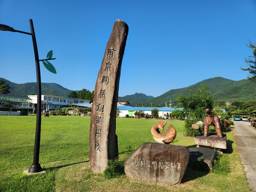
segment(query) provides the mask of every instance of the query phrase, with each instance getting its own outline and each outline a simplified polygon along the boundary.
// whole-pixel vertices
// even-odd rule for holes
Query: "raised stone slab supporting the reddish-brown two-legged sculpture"
[[[223,138],[219,138],[217,134],[208,134],[207,137],[197,136],[195,137],[195,144],[227,149],[227,136],[225,134],[222,136]]]

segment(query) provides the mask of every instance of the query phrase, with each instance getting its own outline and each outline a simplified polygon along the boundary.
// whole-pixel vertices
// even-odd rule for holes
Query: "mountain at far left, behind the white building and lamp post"
[[[13,95],[20,95],[26,96],[31,93],[37,94],[37,85],[36,82],[32,83],[23,83],[23,84],[16,84],[6,79],[0,78],[5,83],[10,85],[10,94]],[[66,89],[59,84],[56,83],[41,83],[41,92],[42,95],[53,95],[53,96],[68,96],[72,90]]]

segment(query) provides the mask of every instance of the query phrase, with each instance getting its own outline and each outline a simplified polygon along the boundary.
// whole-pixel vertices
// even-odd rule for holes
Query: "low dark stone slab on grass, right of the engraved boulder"
[[[204,163],[207,164],[209,169],[212,169],[212,162],[216,159],[216,150],[210,149],[210,148],[198,148],[198,147],[192,147],[189,148],[189,161],[193,162],[196,160],[199,160],[200,157],[204,157]]]

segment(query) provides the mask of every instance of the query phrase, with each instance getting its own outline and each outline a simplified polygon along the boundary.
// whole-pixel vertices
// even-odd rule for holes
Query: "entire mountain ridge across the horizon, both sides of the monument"
[[[0,78],[5,83],[10,85],[11,94],[14,95],[29,95],[31,93],[37,93],[36,82],[16,84],[9,80]],[[134,93],[133,95],[119,96],[118,100],[129,101],[130,105],[134,106],[143,106],[150,107],[151,105],[154,107],[163,107],[167,104],[169,107],[169,103],[171,103],[172,107],[174,107],[176,102],[176,97],[180,94],[189,95],[189,91],[195,91],[197,87],[201,86],[201,84],[207,84],[211,95],[215,96],[217,102],[232,102],[238,100],[256,100],[256,83],[253,81],[249,81],[248,79],[242,79],[239,81],[234,81],[230,79],[225,79],[223,77],[214,77],[205,79],[196,84],[192,84],[188,87],[171,89],[166,93],[163,93],[160,96],[147,96],[144,93]],[[54,95],[54,96],[68,96],[72,90],[62,87],[56,83],[41,83],[42,94]]]

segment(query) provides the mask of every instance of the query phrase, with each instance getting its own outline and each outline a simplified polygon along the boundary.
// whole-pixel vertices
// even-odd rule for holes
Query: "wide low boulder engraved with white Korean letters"
[[[125,174],[174,185],[180,183],[189,163],[189,149],[180,145],[143,143],[125,161]]]

